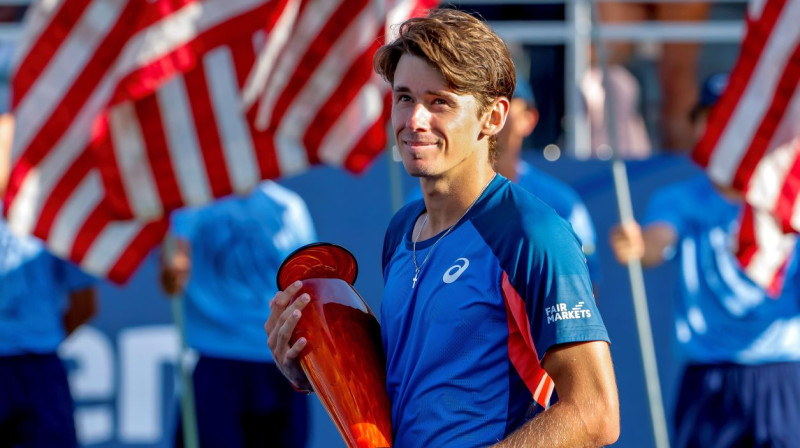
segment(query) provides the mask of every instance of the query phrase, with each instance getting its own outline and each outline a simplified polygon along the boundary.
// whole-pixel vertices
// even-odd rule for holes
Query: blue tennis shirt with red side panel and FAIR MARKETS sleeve
[[[450,234],[417,244],[423,201],[401,209],[383,248],[381,331],[394,446],[487,446],[547,405],[547,350],[608,341],[570,225],[498,175]],[[538,403],[538,404],[536,404]]]

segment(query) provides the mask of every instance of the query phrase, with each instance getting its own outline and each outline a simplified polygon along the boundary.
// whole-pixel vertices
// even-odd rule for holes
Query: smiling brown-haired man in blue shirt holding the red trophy
[[[613,443],[617,391],[580,244],[492,169],[515,82],[505,44],[469,14],[433,10],[405,22],[375,67],[392,85],[398,149],[424,195],[384,241],[393,446]],[[297,356],[308,341],[289,345],[311,300],[287,306],[301,285],[276,294],[265,328],[279,368],[307,389]],[[542,411],[550,378],[558,401]]]

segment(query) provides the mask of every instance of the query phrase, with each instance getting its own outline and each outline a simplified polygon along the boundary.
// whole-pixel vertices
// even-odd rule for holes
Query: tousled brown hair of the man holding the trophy
[[[427,61],[459,95],[472,95],[480,117],[492,102],[511,98],[516,71],[505,42],[482,20],[455,9],[433,9],[400,25],[399,36],[375,53],[375,72],[394,85],[397,63],[404,54]],[[497,156],[497,141],[489,139],[489,157]]]

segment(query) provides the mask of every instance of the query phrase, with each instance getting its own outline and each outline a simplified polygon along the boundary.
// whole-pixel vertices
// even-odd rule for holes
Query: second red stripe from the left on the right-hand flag
[[[775,129],[781,123],[786,108],[794,98],[798,80],[800,80],[800,43],[794,47],[786,67],[783,68],[767,113],[762,118],[750,147],[739,162],[732,183],[737,190],[744,190],[747,187],[759,160],[770,149]]]

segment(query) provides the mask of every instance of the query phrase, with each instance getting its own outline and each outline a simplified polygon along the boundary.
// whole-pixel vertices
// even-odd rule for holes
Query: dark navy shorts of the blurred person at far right
[[[675,424],[677,448],[800,447],[800,363],[691,365]]]

